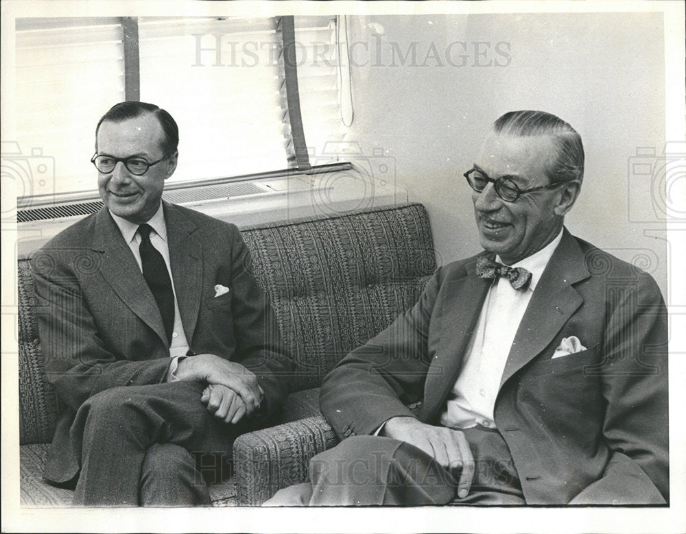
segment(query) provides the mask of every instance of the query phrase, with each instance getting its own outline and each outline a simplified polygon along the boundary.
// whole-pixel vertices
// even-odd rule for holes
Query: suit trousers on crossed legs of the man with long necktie
[[[200,402],[203,389],[179,381],[88,398],[70,430],[81,448],[74,504],[211,505],[207,484],[228,476],[235,433]]]

